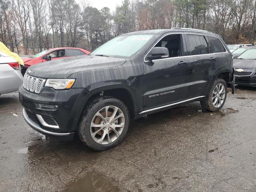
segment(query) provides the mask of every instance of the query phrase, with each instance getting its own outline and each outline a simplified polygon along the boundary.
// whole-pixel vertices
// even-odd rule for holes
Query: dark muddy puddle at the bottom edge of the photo
[[[106,176],[88,173],[86,177],[71,183],[64,192],[117,192],[118,187]]]

